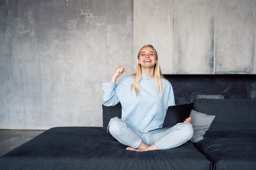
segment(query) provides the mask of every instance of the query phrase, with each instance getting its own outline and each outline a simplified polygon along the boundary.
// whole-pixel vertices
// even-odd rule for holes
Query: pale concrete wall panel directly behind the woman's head
[[[172,74],[174,0],[136,0],[133,3],[134,63],[139,49],[146,44],[153,44],[162,72]]]

